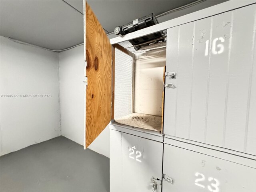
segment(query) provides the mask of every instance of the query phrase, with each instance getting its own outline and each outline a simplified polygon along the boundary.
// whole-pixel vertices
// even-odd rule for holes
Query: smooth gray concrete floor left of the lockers
[[[0,158],[1,192],[109,191],[109,158],[63,136]]]

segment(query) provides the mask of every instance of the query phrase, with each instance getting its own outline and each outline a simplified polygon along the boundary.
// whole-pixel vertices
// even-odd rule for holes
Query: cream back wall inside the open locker
[[[162,116],[166,55],[135,60],[134,112]]]

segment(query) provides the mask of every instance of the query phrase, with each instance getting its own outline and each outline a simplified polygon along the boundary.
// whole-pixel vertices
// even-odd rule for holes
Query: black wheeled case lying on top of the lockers
[[[156,16],[153,13],[151,13],[148,16],[144,16],[144,17],[138,18],[136,20],[133,20],[132,22],[130,22],[126,25],[123,25],[121,27],[117,26],[114,30],[114,33],[116,35],[119,35],[119,34],[125,35],[125,34],[131,33],[131,32],[146,28],[146,27],[153,26],[155,24],[158,24],[158,20],[157,20]],[[135,46],[134,47],[135,50],[139,50],[141,46],[147,46],[150,43],[156,43],[156,42],[164,41],[164,38],[161,38],[162,36],[163,36],[163,32],[161,31],[161,32],[156,32],[156,33],[153,33],[153,34],[150,34],[150,35],[147,35],[147,36],[143,36],[143,37],[140,37],[140,38],[136,38],[136,39],[133,39],[133,40],[129,40],[129,42],[133,46]],[[152,41],[152,40],[156,40],[156,41],[155,42],[149,42],[149,41]],[[143,44],[143,43],[145,43],[145,44]],[[136,46],[136,45],[139,45],[139,44],[140,44],[140,46]]]

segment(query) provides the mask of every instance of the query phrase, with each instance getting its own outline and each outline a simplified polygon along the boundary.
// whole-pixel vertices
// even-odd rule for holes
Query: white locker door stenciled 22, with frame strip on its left
[[[110,130],[110,191],[152,192],[151,178],[162,179],[162,152],[160,142]]]

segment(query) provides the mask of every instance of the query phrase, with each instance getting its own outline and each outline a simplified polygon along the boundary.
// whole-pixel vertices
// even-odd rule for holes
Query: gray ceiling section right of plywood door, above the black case
[[[98,20],[108,32],[150,13],[156,15],[193,2],[192,0],[88,0]]]

